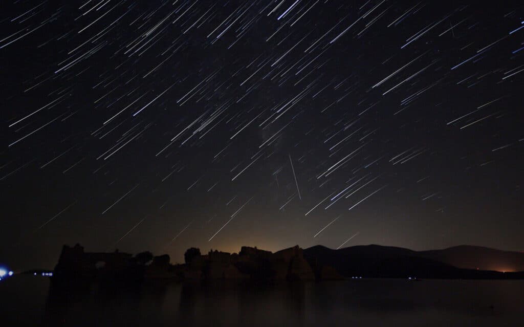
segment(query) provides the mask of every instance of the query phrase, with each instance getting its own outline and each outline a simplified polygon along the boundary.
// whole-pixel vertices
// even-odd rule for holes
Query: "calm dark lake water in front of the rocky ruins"
[[[79,294],[0,282],[2,326],[524,326],[524,281],[169,284]]]

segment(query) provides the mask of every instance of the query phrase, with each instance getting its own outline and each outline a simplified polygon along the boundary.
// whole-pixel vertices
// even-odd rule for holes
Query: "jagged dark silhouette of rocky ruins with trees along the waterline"
[[[143,279],[255,279],[314,280],[338,279],[330,267],[311,267],[298,246],[276,253],[243,246],[238,254],[190,248],[184,254],[185,264],[171,265],[169,255],[152,256],[143,252],[135,257],[121,253],[86,253],[80,245],[64,245],[55,268],[57,279],[111,279],[115,281]],[[149,263],[149,264],[148,264]]]

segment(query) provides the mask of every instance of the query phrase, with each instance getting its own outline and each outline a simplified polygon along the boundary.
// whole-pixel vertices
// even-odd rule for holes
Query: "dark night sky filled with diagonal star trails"
[[[524,249],[518,3],[3,1],[0,261]]]

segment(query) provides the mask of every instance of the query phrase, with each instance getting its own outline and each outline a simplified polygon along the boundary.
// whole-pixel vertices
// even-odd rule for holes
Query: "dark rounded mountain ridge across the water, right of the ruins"
[[[312,265],[333,266],[346,277],[470,278],[475,272],[468,270],[524,271],[524,253],[471,245],[426,251],[375,244],[341,249],[316,245],[304,249],[304,258]]]

